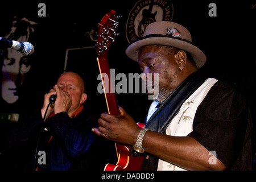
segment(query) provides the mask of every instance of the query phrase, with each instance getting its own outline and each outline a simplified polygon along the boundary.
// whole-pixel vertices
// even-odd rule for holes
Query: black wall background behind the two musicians
[[[38,16],[38,4],[46,4],[46,17]],[[67,48],[94,46],[89,39],[92,28],[97,30],[98,23],[110,10],[122,15],[117,31],[120,33],[109,50],[109,64],[117,73],[139,73],[137,63],[127,58],[125,49],[128,42],[125,36],[126,21],[133,1],[9,1],[1,2],[0,36],[8,30],[13,16],[27,17],[38,23],[35,30],[35,52],[31,56],[31,70],[26,75],[23,95],[19,106],[0,106],[0,113],[18,112],[26,117],[42,106],[43,96],[55,84],[63,72]],[[217,17],[210,17],[209,3],[216,3]],[[207,63],[202,68],[210,75],[235,85],[240,90],[255,113],[255,14],[256,1],[172,1],[174,6],[173,22],[187,27],[193,43],[207,55]],[[76,51],[68,64],[76,63],[77,69],[84,72],[89,111],[101,113],[106,110],[104,94],[97,93],[100,83],[97,76],[96,48],[91,52]],[[72,53],[71,53],[72,54]],[[141,122],[151,101],[146,94],[117,94],[119,105]],[[9,110],[6,110],[9,108]],[[255,120],[255,119],[254,119]],[[1,122],[1,136],[15,123]],[[254,146],[254,145],[253,145]],[[255,148],[255,147],[254,147]],[[254,150],[255,152],[255,150]]]

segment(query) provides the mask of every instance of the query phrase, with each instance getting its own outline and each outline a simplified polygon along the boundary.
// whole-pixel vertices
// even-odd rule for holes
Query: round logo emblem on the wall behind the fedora
[[[129,43],[143,36],[148,24],[171,21],[174,6],[171,0],[140,0],[130,11],[126,23],[126,38]]]

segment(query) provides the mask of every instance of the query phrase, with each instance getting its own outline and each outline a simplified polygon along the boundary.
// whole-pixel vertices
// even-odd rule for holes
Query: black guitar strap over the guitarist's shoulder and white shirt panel
[[[181,105],[194,93],[207,79],[203,72],[197,71],[189,75],[177,88],[164,100],[155,113],[148,120],[145,127],[151,131],[164,133]],[[145,155],[141,170],[156,170],[158,158]]]

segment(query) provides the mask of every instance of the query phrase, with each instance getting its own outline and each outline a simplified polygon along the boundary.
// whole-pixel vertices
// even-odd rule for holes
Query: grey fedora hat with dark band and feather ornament
[[[139,49],[143,46],[162,45],[183,49],[191,53],[197,68],[203,67],[206,56],[195,44],[192,43],[190,32],[187,28],[174,22],[154,22],[148,24],[142,38],[135,40],[126,49],[126,55],[138,61]]]

